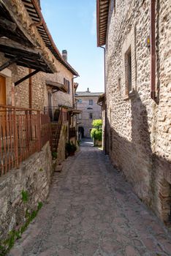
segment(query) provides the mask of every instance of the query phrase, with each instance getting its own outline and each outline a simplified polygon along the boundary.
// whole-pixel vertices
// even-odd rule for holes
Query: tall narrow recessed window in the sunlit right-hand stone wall
[[[131,47],[125,54],[125,70],[126,70],[126,94],[132,92],[132,51]]]

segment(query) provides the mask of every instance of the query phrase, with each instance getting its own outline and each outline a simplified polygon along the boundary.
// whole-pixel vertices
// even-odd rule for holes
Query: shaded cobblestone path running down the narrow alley
[[[171,255],[171,236],[98,148],[54,173],[47,203],[9,255]]]

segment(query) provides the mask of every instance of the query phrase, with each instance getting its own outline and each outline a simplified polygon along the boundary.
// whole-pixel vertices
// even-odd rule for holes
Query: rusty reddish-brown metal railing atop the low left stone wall
[[[39,110],[0,105],[0,176],[50,140],[50,118]]]

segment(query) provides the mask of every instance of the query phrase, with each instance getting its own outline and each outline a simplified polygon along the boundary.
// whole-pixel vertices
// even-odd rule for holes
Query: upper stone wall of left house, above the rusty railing
[[[4,64],[7,61],[4,58],[4,54],[0,53],[0,64]],[[32,108],[44,110],[45,106],[48,106],[48,91],[52,94],[52,105],[66,105],[72,108],[73,105],[73,88],[72,88],[72,73],[64,67],[59,61],[55,60],[58,72],[54,74],[48,74],[45,72],[38,72],[32,76]],[[28,68],[20,67],[16,64],[12,64],[8,69],[4,69],[0,72],[6,78],[7,89],[7,105],[15,105],[20,108],[29,108],[29,95],[28,95],[28,83],[29,80],[25,80],[18,86],[14,87],[16,81],[20,80],[24,76],[28,75]],[[46,86],[45,81],[50,80],[52,82],[64,83],[64,78],[70,82],[70,94],[58,91],[53,93],[49,86]],[[12,95],[13,91],[13,95]]]

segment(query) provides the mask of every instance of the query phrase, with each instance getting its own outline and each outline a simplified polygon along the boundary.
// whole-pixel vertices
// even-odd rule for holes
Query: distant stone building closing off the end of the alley
[[[97,100],[102,92],[77,91],[75,99],[77,100],[77,110],[82,113],[77,115],[78,132],[82,137],[90,138],[92,121],[102,118],[102,108],[97,105]]]

